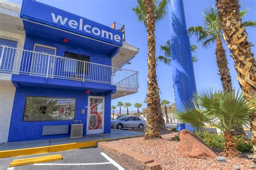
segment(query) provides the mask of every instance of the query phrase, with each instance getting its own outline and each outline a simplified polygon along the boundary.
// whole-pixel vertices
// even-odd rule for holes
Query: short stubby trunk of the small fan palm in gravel
[[[240,153],[237,150],[237,145],[234,143],[232,134],[230,132],[224,132],[224,138],[225,138],[225,148],[224,148],[225,157],[238,157]]]

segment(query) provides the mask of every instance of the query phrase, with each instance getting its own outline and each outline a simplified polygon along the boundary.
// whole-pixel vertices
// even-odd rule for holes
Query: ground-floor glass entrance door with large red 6
[[[104,97],[88,97],[86,134],[104,133],[104,107]]]

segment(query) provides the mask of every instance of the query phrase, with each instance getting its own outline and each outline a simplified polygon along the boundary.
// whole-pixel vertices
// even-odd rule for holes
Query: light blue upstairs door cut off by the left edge
[[[12,70],[15,61],[15,53],[17,47],[17,41],[11,41],[0,38],[0,69]],[[4,46],[4,48],[3,48]],[[8,48],[13,47],[13,48]],[[3,58],[2,58],[3,57]]]

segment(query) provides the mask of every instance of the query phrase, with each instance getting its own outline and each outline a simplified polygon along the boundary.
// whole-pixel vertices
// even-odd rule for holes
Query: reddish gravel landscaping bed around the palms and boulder
[[[179,143],[169,140],[174,137],[177,132],[171,130],[162,130],[163,139],[145,140],[144,137],[120,139],[111,141],[112,144],[122,146],[127,150],[131,150],[154,159],[161,164],[163,169],[180,169],[180,168],[215,168],[215,169],[234,169],[235,165],[241,169],[250,168],[251,160],[247,158],[247,154],[241,158],[227,158],[227,163],[218,164],[215,159],[195,159],[185,157],[178,150]],[[217,153],[223,155],[223,152]]]

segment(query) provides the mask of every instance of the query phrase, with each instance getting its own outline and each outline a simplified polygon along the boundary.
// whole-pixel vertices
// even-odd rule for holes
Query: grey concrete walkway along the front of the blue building
[[[103,141],[110,139],[118,139],[118,138],[129,138],[135,136],[143,136],[144,133],[136,132],[136,131],[128,131],[128,130],[117,130],[111,129],[111,133],[103,133],[103,134],[90,134],[86,135],[82,138],[55,138],[55,139],[42,139],[42,140],[29,140],[29,141],[16,141],[10,143],[3,143],[0,145],[0,151],[6,150],[19,150],[24,148],[32,148],[32,147],[44,147],[44,146],[53,146],[53,145],[63,145],[70,143],[81,143],[84,141]]]

